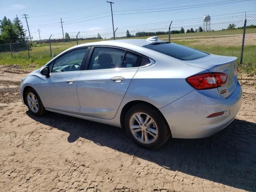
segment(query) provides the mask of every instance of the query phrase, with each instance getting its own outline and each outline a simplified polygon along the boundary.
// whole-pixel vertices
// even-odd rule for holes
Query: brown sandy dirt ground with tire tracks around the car
[[[239,75],[242,108],[227,128],[148,151],[120,128],[33,116],[18,94],[26,73],[0,66],[1,192],[256,191],[256,75]]]

